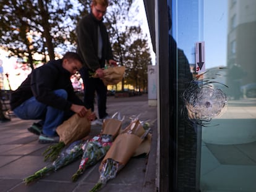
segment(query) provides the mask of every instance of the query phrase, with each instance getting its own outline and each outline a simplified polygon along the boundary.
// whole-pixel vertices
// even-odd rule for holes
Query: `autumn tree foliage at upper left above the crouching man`
[[[77,7],[74,7],[77,5]],[[74,28],[83,6],[76,0],[6,0],[0,4],[0,46],[11,56],[49,59],[75,49]]]

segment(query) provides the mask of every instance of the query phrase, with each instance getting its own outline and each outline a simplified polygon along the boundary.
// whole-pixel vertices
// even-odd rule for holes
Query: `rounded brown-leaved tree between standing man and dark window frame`
[[[113,44],[114,53],[122,52],[122,65],[126,66],[124,79],[137,90],[147,87],[147,65],[151,64],[147,36],[140,27],[126,27],[119,34],[119,41]]]

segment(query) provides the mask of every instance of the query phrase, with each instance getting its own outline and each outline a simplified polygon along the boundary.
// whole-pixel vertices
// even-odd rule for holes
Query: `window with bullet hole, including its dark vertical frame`
[[[158,103],[166,108],[160,109],[158,140],[163,138],[160,152],[168,149],[168,154],[160,154],[160,191],[166,186],[169,191],[256,191],[256,12],[242,8],[254,10],[256,1],[158,2]],[[205,45],[200,62],[206,72],[191,74],[198,42]],[[191,75],[194,80],[202,77],[196,85],[207,88],[197,92],[197,86],[189,84]],[[184,97],[197,102],[184,102]],[[218,105],[223,98],[228,105]]]

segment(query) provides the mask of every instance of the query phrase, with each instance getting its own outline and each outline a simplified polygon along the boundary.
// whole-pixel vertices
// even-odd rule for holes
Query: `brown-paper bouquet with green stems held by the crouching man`
[[[82,140],[82,138],[89,135],[91,121],[88,117],[91,114],[92,112],[90,109],[85,117],[79,117],[78,114],[74,114],[57,127],[56,132],[59,135],[59,143],[52,144],[43,152],[45,161],[47,159],[54,161],[65,146],[69,146],[70,143]]]

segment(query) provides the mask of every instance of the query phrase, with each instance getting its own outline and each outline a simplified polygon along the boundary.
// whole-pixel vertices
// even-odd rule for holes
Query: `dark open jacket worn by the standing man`
[[[103,50],[101,63],[98,58],[98,26],[100,26]],[[105,60],[113,59],[108,32],[104,23],[98,21],[92,13],[83,17],[77,26],[77,53],[83,60],[85,68],[95,71],[105,65]]]

